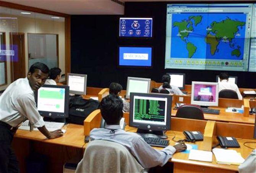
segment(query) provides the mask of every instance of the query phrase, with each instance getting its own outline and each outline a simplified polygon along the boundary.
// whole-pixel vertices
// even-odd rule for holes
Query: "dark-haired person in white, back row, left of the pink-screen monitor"
[[[170,92],[170,94],[175,95],[185,95],[182,91],[180,91],[179,87],[177,86],[170,86],[171,82],[171,76],[169,74],[164,74],[162,77],[163,84],[158,88],[158,91],[160,92],[162,89],[166,89]]]

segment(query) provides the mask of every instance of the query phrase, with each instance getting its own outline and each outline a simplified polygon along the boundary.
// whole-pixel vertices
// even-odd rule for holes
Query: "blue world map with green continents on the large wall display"
[[[243,60],[245,25],[242,13],[173,14],[171,58]]]

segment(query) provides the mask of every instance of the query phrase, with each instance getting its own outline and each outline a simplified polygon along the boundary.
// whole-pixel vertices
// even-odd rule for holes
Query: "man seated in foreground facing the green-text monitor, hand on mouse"
[[[186,149],[185,144],[167,146],[162,150],[153,149],[136,133],[126,132],[120,128],[123,116],[123,102],[117,96],[110,94],[100,102],[100,112],[106,121],[105,128],[92,129],[91,140],[107,140],[125,146],[143,168],[163,166],[175,152]]]

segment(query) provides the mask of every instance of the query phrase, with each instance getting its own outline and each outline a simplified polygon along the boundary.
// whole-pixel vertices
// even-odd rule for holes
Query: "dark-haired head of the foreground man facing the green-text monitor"
[[[123,101],[117,95],[107,95],[100,102],[100,112],[107,124],[118,124],[123,117]]]

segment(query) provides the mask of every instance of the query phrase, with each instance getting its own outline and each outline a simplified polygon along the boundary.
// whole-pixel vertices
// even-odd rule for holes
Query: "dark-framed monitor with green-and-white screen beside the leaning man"
[[[69,112],[69,87],[44,85],[35,94],[40,115],[50,118],[66,118]]]

